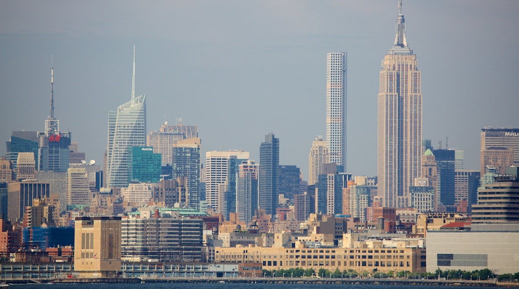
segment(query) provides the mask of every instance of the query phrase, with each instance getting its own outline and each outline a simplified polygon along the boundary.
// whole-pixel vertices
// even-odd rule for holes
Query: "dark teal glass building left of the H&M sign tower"
[[[38,155],[38,133],[26,131],[13,131],[11,138],[6,141],[6,160],[11,161],[12,168],[16,169],[18,153],[32,152]]]

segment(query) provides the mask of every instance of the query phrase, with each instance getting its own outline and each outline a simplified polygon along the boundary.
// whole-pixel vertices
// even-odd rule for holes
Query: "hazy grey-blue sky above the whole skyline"
[[[519,127],[519,1],[404,1],[408,45],[422,73],[423,136],[448,136],[479,169],[485,126]],[[325,136],[326,53],[348,53],[347,170],[376,174],[380,63],[394,42],[397,0],[0,0],[0,155],[11,131],[62,131],[102,164],[108,110],[147,94],[147,130],[182,118],[202,150],[259,161],[266,133],[280,164],[308,176]],[[203,153],[203,156],[205,153]],[[202,162],[203,162],[202,156]]]

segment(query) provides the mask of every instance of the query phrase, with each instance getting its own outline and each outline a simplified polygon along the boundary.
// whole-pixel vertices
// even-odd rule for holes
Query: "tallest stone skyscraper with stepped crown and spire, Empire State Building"
[[[394,45],[380,70],[377,163],[378,195],[384,207],[397,208],[406,206],[422,155],[421,74],[399,8]]]

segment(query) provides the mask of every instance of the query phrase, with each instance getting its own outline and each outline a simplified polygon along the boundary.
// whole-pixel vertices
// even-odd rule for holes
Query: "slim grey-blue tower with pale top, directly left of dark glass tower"
[[[253,161],[238,165],[236,213],[245,224],[252,221],[258,207],[258,167]]]

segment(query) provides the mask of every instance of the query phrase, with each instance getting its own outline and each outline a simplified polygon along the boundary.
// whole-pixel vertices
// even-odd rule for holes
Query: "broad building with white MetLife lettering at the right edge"
[[[519,166],[519,128],[490,128],[481,129],[481,152],[489,148],[507,148],[513,150],[513,166]],[[481,156],[481,175],[485,167],[495,164],[485,161]]]

